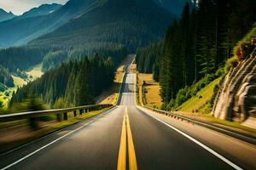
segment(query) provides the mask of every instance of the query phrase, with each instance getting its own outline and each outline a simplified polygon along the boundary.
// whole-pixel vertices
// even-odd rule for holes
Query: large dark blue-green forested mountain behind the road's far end
[[[47,71],[63,61],[94,55],[110,56],[114,63],[118,63],[127,53],[135,53],[138,47],[162,40],[167,27],[175,18],[154,0],[83,2],[85,0],[71,0],[54,13],[47,15],[46,23],[51,20],[52,27],[55,26],[54,23],[59,25],[65,22],[66,15],[63,14],[67,14],[68,18],[73,16],[72,20],[66,21],[55,31],[19,48],[0,50],[0,64],[9,68],[9,71],[16,71],[17,68],[23,71],[43,61],[44,70]],[[33,21],[34,18],[27,20]],[[41,18],[45,20],[45,16]],[[24,23],[16,28],[20,29],[22,26]],[[40,22],[38,26],[41,26]],[[32,26],[24,26],[24,29],[26,27],[32,28]],[[44,28],[44,25],[41,27]],[[32,29],[26,30],[32,31]],[[0,26],[1,34],[3,33]],[[13,35],[17,36],[17,34]],[[7,36],[6,41],[8,41]],[[59,54],[65,55],[58,57]]]

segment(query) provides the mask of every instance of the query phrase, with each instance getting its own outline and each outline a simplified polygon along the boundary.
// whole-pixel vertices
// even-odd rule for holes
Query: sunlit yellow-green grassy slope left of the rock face
[[[187,100],[177,108],[177,111],[200,111],[202,108],[206,107],[207,102],[212,98],[213,88],[218,85],[221,78],[218,78],[207,85],[206,88],[202,88],[194,97]]]

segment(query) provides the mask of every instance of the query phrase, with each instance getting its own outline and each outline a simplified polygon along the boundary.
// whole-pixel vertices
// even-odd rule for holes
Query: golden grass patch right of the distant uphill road
[[[143,82],[145,82],[144,85]],[[144,105],[154,108],[161,107],[160,84],[154,81],[152,74],[138,74],[138,88],[140,103],[144,100]]]

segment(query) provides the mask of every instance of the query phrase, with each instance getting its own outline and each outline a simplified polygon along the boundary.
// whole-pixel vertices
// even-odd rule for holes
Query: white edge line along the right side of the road
[[[140,110],[142,110],[141,108],[138,108]],[[144,111],[143,111],[144,112]],[[238,167],[235,163],[233,163],[232,161],[228,160],[227,158],[225,158],[224,156],[221,156],[220,154],[218,154],[216,151],[212,150],[211,148],[209,148],[207,145],[202,144],[201,142],[199,142],[198,140],[192,138],[191,136],[189,136],[186,133],[183,133],[182,131],[178,130],[176,127],[172,127],[172,125],[161,121],[159,118],[152,116],[150,114],[148,114],[148,116],[153,117],[155,120],[162,122],[163,124],[165,124],[167,127],[171,127],[173,130],[177,131],[177,133],[181,133],[183,136],[185,136],[186,138],[190,139],[191,141],[195,142],[195,144],[200,145],[203,149],[207,150],[208,152],[210,152],[212,155],[217,156],[219,159],[221,159],[222,161],[224,161],[225,163],[227,163],[228,165],[230,165],[231,167],[234,167],[236,170],[243,170],[241,167]]]

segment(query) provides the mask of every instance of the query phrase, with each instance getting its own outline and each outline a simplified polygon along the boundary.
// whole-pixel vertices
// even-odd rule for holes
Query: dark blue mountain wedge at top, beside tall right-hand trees
[[[155,0],[156,3],[160,4],[163,8],[166,8],[172,14],[180,16],[183,11],[185,3],[193,4],[192,0]]]

